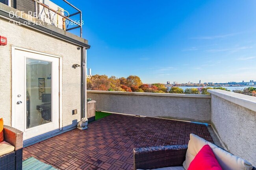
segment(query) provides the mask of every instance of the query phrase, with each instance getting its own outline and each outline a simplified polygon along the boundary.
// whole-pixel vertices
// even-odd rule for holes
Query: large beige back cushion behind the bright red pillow
[[[186,170],[189,167],[191,161],[193,161],[195,158],[195,155],[197,155],[201,148],[206,144],[208,144],[213,150],[213,153],[223,170],[252,170],[252,165],[248,161],[238,156],[232,155],[229,152],[219,148],[215,144],[212,144],[194,134],[190,134],[186,160],[183,163],[183,166]]]

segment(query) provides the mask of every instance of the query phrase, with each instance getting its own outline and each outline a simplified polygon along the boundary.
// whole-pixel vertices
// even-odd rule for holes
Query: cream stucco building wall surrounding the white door
[[[50,37],[24,26],[13,26],[0,18],[0,35],[7,37],[7,46],[0,46],[0,117],[11,125],[11,46],[40,51],[62,58],[62,123],[63,129],[76,126],[81,118],[81,50],[77,46]],[[78,113],[72,115],[72,110]]]

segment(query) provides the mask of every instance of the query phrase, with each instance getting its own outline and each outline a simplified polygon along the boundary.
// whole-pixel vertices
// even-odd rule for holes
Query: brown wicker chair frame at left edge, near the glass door
[[[4,141],[15,147],[14,151],[0,156],[1,170],[22,170],[23,132],[4,125]]]

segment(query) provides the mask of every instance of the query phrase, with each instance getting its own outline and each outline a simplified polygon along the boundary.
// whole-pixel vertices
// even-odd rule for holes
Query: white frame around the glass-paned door
[[[59,57],[57,55],[51,55],[48,53],[43,53],[43,52],[39,52],[39,51],[34,51],[31,49],[26,49],[26,48],[21,48],[21,47],[17,47],[17,46],[11,46],[11,126],[15,127],[15,73],[16,73],[16,68],[15,68],[15,61],[14,61],[14,57],[15,57],[15,50],[19,49],[21,51],[26,51],[26,52],[30,52],[30,53],[35,53],[35,54],[41,54],[41,55],[46,55],[49,57],[56,57],[59,58],[59,130],[62,130],[62,57]],[[43,134],[45,135],[45,134]],[[39,135],[43,136],[43,135]]]

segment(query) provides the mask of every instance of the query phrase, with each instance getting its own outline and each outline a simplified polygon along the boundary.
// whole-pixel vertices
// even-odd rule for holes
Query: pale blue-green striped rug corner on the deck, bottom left
[[[22,161],[22,170],[56,170],[54,167],[43,163],[34,157]]]

